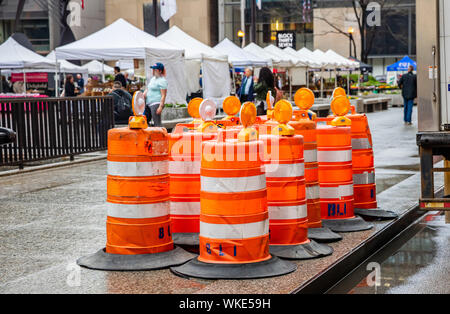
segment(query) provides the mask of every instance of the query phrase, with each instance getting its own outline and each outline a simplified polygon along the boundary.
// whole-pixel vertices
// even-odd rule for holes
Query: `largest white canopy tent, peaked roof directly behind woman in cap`
[[[57,60],[144,59],[148,79],[150,65],[161,62],[166,69],[167,103],[186,102],[184,51],[118,19],[105,28],[73,43],[56,48]]]

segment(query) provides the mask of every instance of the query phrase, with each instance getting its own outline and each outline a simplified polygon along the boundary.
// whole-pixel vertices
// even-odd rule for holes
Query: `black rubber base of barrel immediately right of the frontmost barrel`
[[[333,254],[333,248],[314,240],[299,245],[271,245],[270,254],[285,259],[302,260],[319,258]]]

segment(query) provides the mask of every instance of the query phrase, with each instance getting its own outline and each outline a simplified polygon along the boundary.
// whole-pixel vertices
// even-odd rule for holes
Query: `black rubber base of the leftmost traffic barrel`
[[[180,247],[163,253],[139,255],[109,254],[101,249],[97,253],[80,257],[77,264],[97,270],[154,270],[181,265],[194,257],[194,254]]]

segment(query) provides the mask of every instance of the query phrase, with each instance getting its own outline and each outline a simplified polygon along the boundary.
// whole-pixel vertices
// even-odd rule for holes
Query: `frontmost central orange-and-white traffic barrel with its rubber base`
[[[200,255],[176,274],[208,279],[262,278],[292,272],[296,266],[269,253],[269,213],[262,162],[263,142],[245,124],[239,139],[202,143]],[[244,134],[245,133],[245,134]],[[223,139],[224,137],[222,137]]]

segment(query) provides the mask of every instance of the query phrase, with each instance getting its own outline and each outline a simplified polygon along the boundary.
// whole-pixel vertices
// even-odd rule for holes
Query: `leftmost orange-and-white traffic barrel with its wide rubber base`
[[[106,248],[80,258],[80,266],[158,269],[193,257],[172,241],[168,146],[164,128],[108,131]]]

